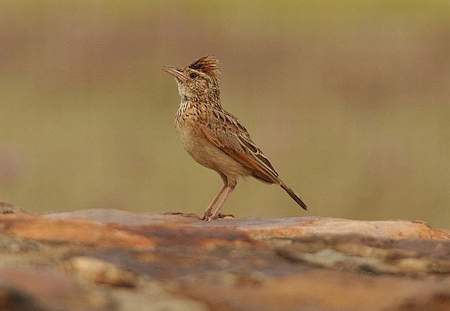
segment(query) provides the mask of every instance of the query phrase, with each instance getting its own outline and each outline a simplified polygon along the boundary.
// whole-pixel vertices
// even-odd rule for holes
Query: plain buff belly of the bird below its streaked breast
[[[233,179],[251,175],[250,169],[214,145],[199,128],[177,126],[177,131],[184,149],[199,164]]]

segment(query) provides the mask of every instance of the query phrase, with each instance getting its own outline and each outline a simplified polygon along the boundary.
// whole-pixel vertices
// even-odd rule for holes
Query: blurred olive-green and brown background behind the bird
[[[222,61],[222,102],[309,206],[257,180],[237,217],[450,228],[449,1],[1,1],[0,200],[203,213],[160,65]]]

